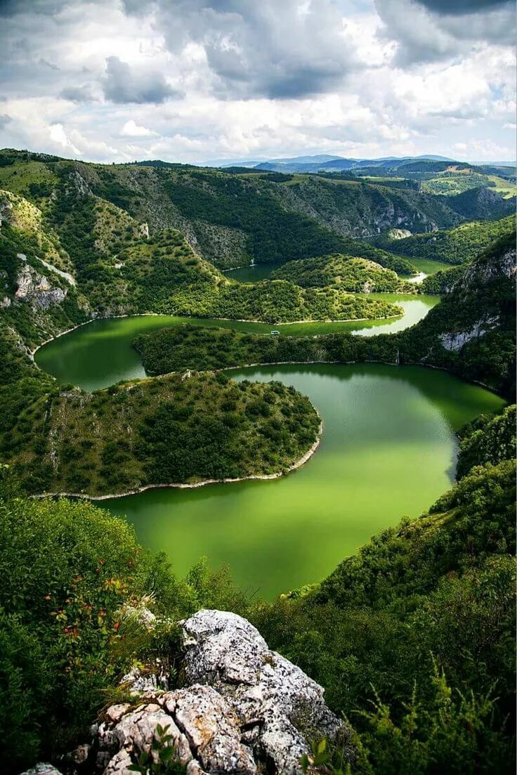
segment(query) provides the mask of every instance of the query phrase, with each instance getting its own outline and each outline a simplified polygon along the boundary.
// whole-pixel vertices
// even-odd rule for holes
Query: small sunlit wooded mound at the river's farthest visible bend
[[[331,256],[319,256],[298,261],[289,261],[283,267],[274,270],[271,277],[289,280],[302,288],[339,288],[355,293],[377,293],[397,291],[416,293],[414,283],[400,280],[391,269],[385,269],[374,261],[333,253]]]

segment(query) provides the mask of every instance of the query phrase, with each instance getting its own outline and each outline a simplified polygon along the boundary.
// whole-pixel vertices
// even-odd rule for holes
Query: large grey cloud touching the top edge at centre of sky
[[[125,7],[131,13],[134,3]],[[153,12],[172,53],[188,43],[202,49],[224,98],[317,95],[360,66],[330,0],[158,0]]]

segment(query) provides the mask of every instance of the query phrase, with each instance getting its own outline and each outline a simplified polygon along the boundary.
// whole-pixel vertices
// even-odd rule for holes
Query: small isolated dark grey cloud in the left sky
[[[130,67],[119,57],[108,57],[106,60],[103,88],[106,99],[119,103],[160,104],[167,99],[181,96],[181,92],[175,91],[159,71]]]

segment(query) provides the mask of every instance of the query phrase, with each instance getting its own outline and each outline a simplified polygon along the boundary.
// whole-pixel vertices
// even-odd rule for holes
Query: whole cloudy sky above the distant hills
[[[0,147],[515,158],[508,0],[0,0]]]

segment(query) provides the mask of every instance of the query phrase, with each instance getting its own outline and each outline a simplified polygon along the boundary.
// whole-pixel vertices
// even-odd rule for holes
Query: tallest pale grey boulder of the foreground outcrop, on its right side
[[[309,740],[334,739],[338,732],[345,743],[350,739],[327,708],[322,687],[268,649],[246,619],[205,610],[180,624],[186,682],[210,684],[225,698],[257,762],[268,763],[276,773],[298,773]]]

